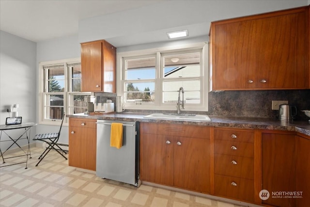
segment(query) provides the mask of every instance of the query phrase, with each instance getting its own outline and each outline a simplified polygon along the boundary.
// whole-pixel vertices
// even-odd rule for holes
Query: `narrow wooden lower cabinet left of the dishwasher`
[[[96,120],[69,118],[69,166],[96,170]]]

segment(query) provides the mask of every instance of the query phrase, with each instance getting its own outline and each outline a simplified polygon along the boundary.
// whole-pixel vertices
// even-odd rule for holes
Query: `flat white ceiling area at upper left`
[[[0,0],[0,30],[41,42],[78,34],[78,21],[167,0]]]

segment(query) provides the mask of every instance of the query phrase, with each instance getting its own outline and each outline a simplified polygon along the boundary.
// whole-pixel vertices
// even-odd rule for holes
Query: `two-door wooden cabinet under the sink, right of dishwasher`
[[[142,181],[210,193],[210,128],[140,123]]]

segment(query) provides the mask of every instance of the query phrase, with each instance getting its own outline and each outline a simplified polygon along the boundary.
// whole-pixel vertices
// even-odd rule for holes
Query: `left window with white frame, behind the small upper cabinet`
[[[66,114],[87,111],[91,93],[81,92],[80,60],[45,62],[40,68],[40,124],[53,124]]]

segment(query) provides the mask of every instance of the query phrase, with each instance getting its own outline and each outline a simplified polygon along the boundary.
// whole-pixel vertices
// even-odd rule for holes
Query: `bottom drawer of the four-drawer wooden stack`
[[[215,175],[215,195],[254,202],[254,180]]]

